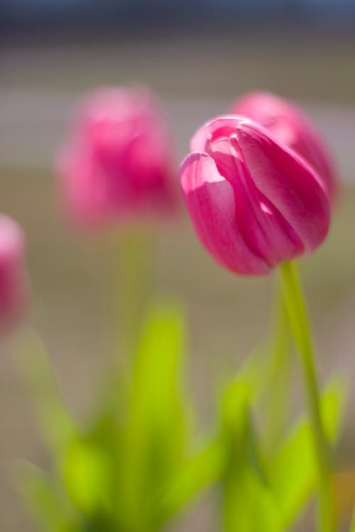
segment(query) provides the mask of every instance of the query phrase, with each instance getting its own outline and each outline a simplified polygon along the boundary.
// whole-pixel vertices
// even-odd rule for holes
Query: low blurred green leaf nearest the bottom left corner
[[[24,465],[17,484],[40,530],[77,532],[82,529],[80,515],[70,506],[55,482],[39,467]]]

